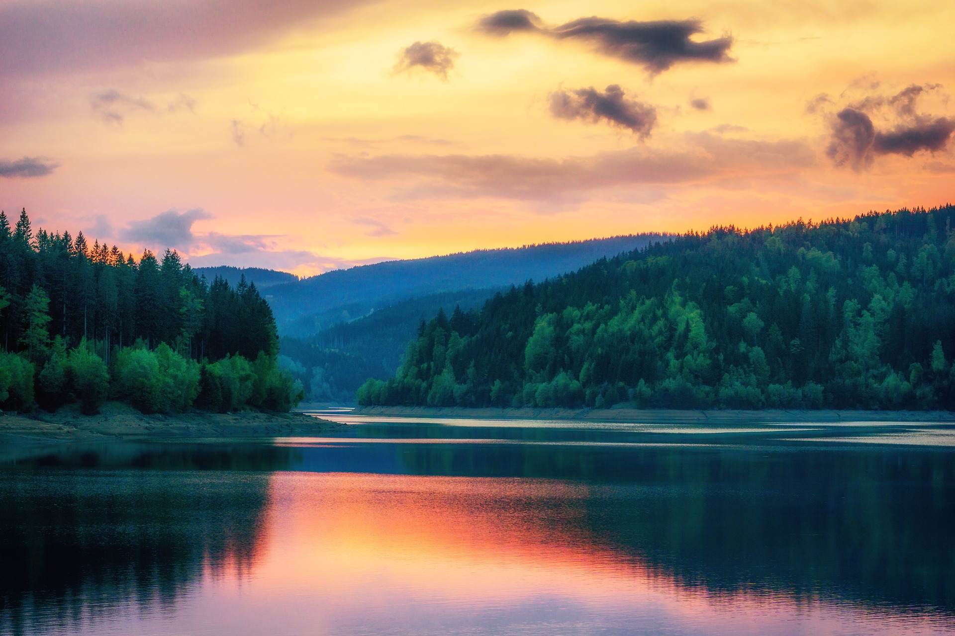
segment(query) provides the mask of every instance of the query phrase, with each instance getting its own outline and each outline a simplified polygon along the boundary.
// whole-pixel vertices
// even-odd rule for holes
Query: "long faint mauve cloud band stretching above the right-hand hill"
[[[409,177],[423,182],[416,197],[473,197],[556,201],[568,195],[621,186],[689,184],[737,174],[792,172],[815,162],[799,141],[729,139],[710,133],[687,134],[685,150],[631,148],[562,159],[512,154],[336,155],[335,174],[362,179]]]

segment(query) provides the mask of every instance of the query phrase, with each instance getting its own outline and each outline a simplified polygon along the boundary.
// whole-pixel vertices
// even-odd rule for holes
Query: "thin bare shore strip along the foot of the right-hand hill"
[[[354,415],[416,416],[424,418],[505,418],[511,420],[580,420],[642,423],[745,423],[840,421],[955,421],[952,411],[836,411],[836,410],[674,410],[674,409],[563,409],[563,408],[459,408],[435,406],[361,406]]]

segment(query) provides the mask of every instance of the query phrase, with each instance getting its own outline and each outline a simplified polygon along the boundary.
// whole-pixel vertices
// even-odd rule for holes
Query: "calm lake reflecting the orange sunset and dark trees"
[[[6,454],[0,633],[955,633],[950,425],[323,415]]]

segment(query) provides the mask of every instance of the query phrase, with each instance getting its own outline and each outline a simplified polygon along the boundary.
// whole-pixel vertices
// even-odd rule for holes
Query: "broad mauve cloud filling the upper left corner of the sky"
[[[0,2],[0,76],[226,55],[364,4],[368,0],[8,0]]]

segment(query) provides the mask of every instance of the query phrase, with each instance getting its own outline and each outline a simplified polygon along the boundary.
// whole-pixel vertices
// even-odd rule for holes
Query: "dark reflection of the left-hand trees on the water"
[[[122,611],[171,610],[206,568],[247,571],[264,542],[264,471],[288,465],[294,452],[110,444],[0,472],[0,509],[15,511],[0,515],[0,632],[47,633]],[[74,470],[81,466],[163,470],[91,478]],[[33,469],[42,472],[31,476]],[[237,479],[220,470],[253,472]]]

